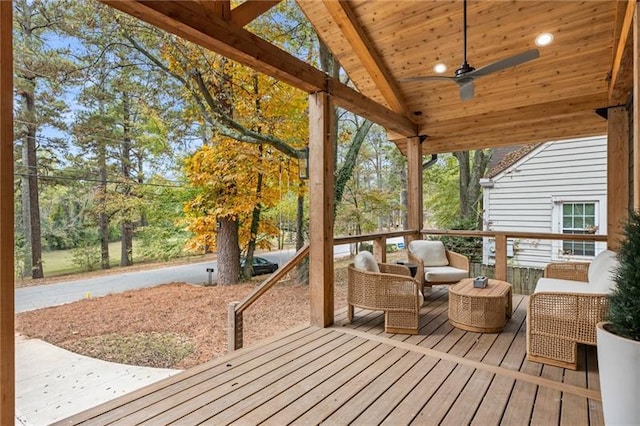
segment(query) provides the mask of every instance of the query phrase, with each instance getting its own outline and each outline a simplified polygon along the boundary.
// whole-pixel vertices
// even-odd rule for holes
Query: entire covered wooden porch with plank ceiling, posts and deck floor
[[[457,98],[455,86],[451,90],[444,84],[399,82],[430,74],[428,57],[457,60],[461,2],[300,1],[358,91],[243,28],[278,1],[247,1],[233,9],[229,1],[103,3],[310,93],[311,314],[306,327],[65,424],[132,424],[135,419],[149,424],[603,422],[593,350],[582,354],[576,372],[525,360],[526,297],[516,297],[514,316],[500,334],[451,327],[446,289],[429,296],[417,336],[385,335],[382,318],[374,313],[359,313],[353,327],[342,324],[346,314],[334,315],[333,308],[330,134],[336,105],[388,129],[408,160],[406,232],[409,238],[420,238],[425,155],[606,133],[606,238],[615,250],[621,219],[629,208],[640,206],[639,24],[634,0],[501,2],[496,7],[494,2],[472,2],[476,15],[483,17],[477,24],[478,39],[471,43],[478,66],[526,50],[533,43],[532,31],[555,31],[560,47],[548,51],[546,59],[542,52],[539,62],[518,72],[479,80],[476,98],[468,102]],[[12,2],[0,2],[2,424],[14,422],[15,380],[13,77],[6,65],[12,63],[11,8]],[[484,89],[481,84],[486,84]],[[596,109],[606,111],[608,120],[595,114]],[[506,278],[506,241],[506,235],[496,238],[499,279]]]

